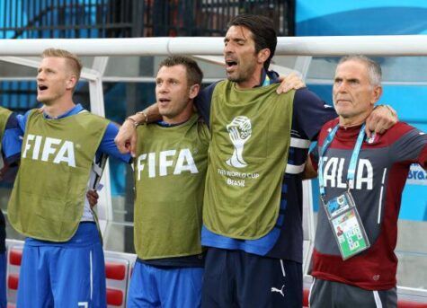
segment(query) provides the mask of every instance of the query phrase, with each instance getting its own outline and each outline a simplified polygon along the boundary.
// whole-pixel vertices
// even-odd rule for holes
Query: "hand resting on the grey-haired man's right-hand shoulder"
[[[366,135],[370,137],[372,132],[384,134],[388,128],[397,123],[397,120],[396,110],[388,105],[378,105],[366,119]]]

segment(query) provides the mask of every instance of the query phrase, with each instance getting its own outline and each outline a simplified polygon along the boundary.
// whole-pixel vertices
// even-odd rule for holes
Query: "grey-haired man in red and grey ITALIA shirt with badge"
[[[317,146],[321,201],[310,307],[397,305],[394,250],[402,190],[411,163],[427,169],[427,135],[397,122],[382,135],[365,137],[366,119],[381,94],[376,62],[341,59],[333,87],[339,118],[325,124]]]

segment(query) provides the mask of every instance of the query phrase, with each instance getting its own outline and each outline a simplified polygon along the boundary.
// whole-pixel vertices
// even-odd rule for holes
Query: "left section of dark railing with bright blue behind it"
[[[130,37],[134,0],[2,0],[0,38]],[[3,14],[3,16],[2,16]]]

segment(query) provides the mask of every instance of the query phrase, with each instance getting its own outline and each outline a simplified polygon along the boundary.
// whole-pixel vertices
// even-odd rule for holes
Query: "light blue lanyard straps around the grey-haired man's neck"
[[[334,127],[334,129],[329,133],[329,135],[326,136],[324,145],[322,145],[322,149],[320,150],[318,177],[319,177],[320,196],[323,200],[325,200],[325,195],[326,195],[324,172],[323,172],[323,164],[324,164],[323,158],[324,158],[326,149],[329,147],[329,145],[332,144],[332,141],[334,140],[334,136],[339,126],[340,125],[337,124]],[[353,153],[351,154],[349,170],[347,172],[347,190],[350,190],[350,187],[353,186],[354,175],[356,173],[356,164],[357,164],[361,144],[363,143],[364,137],[365,137],[365,124],[363,124],[362,127],[360,128],[359,136],[357,137],[357,140],[356,140],[356,145],[354,145]]]

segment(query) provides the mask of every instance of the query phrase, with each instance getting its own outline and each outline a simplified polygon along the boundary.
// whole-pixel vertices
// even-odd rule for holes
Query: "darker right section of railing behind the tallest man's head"
[[[239,13],[270,17],[280,36],[295,32],[294,0],[156,0],[150,10],[145,36],[223,36]]]

